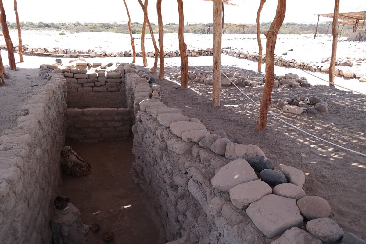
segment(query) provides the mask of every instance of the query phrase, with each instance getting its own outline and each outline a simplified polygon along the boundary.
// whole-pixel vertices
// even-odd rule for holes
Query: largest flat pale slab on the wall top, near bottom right
[[[268,238],[278,236],[304,220],[296,205],[296,200],[274,194],[265,195],[253,202],[246,213],[255,226]]]

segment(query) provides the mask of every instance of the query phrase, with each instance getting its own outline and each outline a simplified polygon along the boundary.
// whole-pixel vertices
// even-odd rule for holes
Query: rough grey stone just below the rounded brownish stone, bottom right
[[[342,228],[330,218],[312,219],[306,223],[306,230],[324,242],[335,242],[344,236]]]

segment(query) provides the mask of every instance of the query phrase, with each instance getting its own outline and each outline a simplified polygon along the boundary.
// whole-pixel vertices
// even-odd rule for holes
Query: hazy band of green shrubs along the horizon
[[[262,22],[261,23],[261,33],[268,30],[271,22]],[[158,25],[151,24],[154,33],[159,32]],[[59,31],[70,31],[71,33],[78,32],[116,32],[116,33],[129,33],[127,24],[118,24],[118,23],[45,23],[45,22],[20,22],[20,26],[22,30],[59,30]],[[213,26],[213,23],[209,24],[188,24],[184,26],[185,33],[201,33],[206,34],[207,26]],[[327,23],[319,23],[318,25],[318,33],[326,34],[329,26],[329,22]],[[16,30],[16,23],[8,22],[8,27],[11,30]],[[339,29],[342,28],[342,25],[339,26]],[[141,34],[142,24],[138,22],[131,23],[132,34]],[[283,23],[279,34],[312,34],[315,31],[315,24],[310,23],[292,23],[287,22]],[[177,33],[178,32],[178,24],[168,23],[164,25],[164,33]],[[342,36],[347,36],[352,32],[352,26],[344,26],[342,30]],[[149,33],[149,28],[146,28],[146,33]],[[229,30],[226,29],[225,33],[239,33],[239,27],[231,27]],[[240,29],[240,33],[243,33],[243,29]],[[253,34],[253,28],[247,27],[246,33]],[[257,31],[254,28],[254,34]],[[332,26],[330,25],[328,34],[332,33]]]

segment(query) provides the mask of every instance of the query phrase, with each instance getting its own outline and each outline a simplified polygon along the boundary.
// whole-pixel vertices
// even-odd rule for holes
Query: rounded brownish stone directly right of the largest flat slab
[[[299,199],[298,205],[301,214],[306,219],[328,218],[330,215],[329,203],[319,196],[305,196]]]

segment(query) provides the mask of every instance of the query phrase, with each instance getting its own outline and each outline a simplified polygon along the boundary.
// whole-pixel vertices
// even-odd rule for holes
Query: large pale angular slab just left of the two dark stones
[[[238,158],[224,165],[212,178],[211,184],[220,191],[228,192],[241,183],[258,180],[254,169],[244,159]]]

